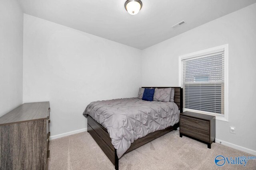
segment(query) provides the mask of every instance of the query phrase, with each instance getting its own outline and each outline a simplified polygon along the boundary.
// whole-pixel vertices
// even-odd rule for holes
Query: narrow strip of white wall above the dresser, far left
[[[0,117],[22,104],[23,12],[0,0]]]

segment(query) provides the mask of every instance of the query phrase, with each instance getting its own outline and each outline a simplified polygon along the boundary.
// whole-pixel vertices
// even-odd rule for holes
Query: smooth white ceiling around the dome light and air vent
[[[59,23],[137,49],[145,49],[244,8],[256,0],[142,0],[137,15],[126,0],[21,0],[25,14]],[[172,25],[186,24],[173,29]]]

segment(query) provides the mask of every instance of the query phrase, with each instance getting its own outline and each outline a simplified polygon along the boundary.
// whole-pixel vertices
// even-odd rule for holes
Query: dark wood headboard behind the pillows
[[[174,88],[174,103],[179,107],[180,113],[183,111],[183,91],[181,87],[142,87],[142,88]]]

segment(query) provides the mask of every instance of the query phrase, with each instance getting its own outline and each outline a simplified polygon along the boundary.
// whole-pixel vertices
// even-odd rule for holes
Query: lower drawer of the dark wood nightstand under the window
[[[184,124],[180,124],[180,133],[184,133],[191,137],[195,137],[197,139],[201,139],[202,141],[210,142],[210,134],[208,131],[204,131],[202,129],[198,129],[195,127],[190,127]]]

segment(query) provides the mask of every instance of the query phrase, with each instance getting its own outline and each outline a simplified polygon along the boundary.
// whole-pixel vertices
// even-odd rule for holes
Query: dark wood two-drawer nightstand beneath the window
[[[211,149],[215,142],[215,116],[190,111],[180,113],[180,137],[182,135],[198,139]]]

